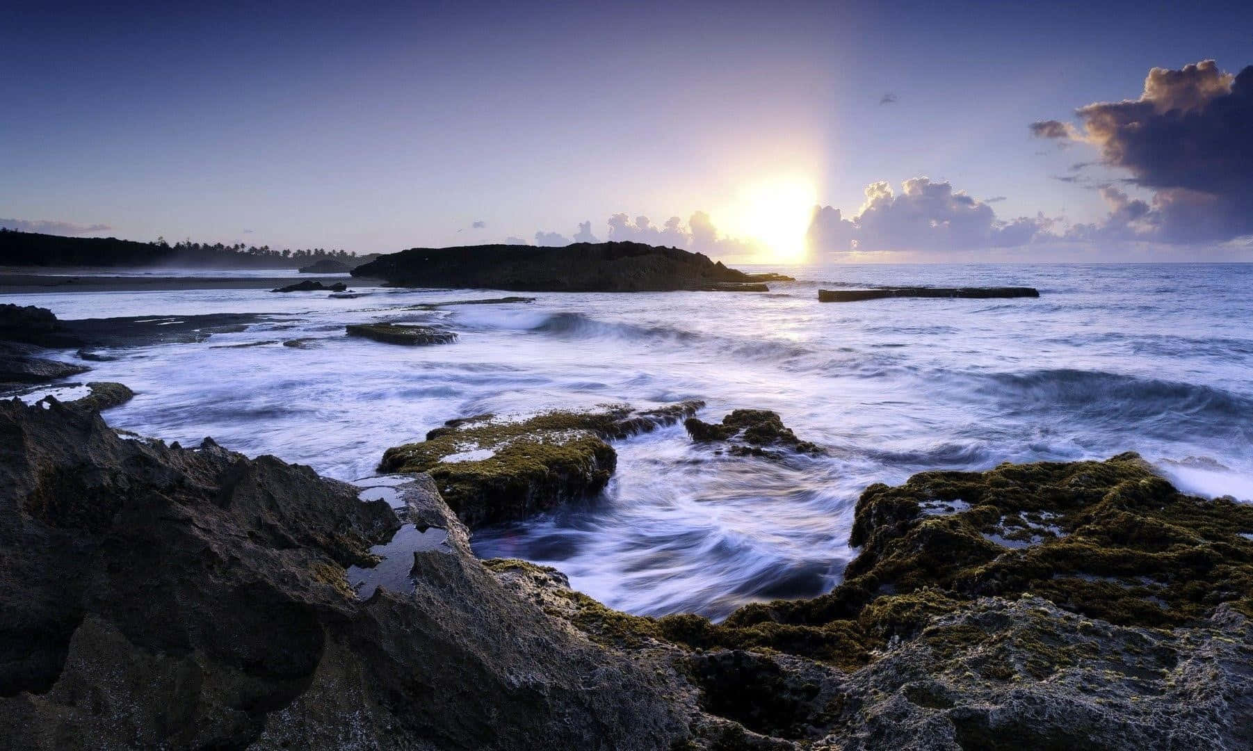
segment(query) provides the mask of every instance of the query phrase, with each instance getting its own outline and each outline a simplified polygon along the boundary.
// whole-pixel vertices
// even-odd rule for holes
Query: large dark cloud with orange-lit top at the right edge
[[[1051,125],[1036,127],[1064,125],[1070,139],[1099,149],[1105,165],[1154,191],[1150,202],[1139,202],[1146,211],[1134,219],[1136,238],[1197,243],[1253,234],[1253,65],[1234,75],[1213,60],[1154,68],[1138,99],[1098,102],[1075,115],[1081,132],[1056,120],[1031,129],[1056,138]],[[1101,227],[1126,234],[1124,207],[1111,206]]]

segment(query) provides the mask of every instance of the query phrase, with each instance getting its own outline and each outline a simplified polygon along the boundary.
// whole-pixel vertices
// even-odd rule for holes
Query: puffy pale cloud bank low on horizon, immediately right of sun
[[[807,239],[816,251],[970,251],[1016,247],[1048,232],[1042,214],[997,219],[985,201],[926,177],[907,179],[897,193],[887,182],[866,187],[857,216],[814,207]]]

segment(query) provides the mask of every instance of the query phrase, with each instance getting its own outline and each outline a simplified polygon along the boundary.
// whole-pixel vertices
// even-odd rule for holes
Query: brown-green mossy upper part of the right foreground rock
[[[1223,603],[1253,613],[1249,533],[1253,505],[1184,495],[1136,454],[922,473],[866,489],[851,540],[862,550],[832,592],[749,604],[722,623],[667,616],[655,634],[855,668],[901,639],[926,636],[941,652],[969,646],[972,634],[933,623],[985,596],[1040,597],[1118,626],[1190,626]],[[1056,654],[1027,666],[1036,677],[1081,657],[1046,647]]]

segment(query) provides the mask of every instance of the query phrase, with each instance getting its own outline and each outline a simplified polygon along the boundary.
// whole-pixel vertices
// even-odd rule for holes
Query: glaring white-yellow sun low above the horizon
[[[813,181],[784,176],[746,186],[739,193],[737,222],[742,237],[764,248],[763,261],[798,263],[804,260],[804,234],[817,199]]]

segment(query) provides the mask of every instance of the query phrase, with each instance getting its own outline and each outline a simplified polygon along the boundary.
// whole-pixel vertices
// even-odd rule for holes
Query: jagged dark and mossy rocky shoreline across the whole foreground
[[[122,435],[95,406],[0,402],[0,726],[15,748],[1253,742],[1253,507],[1179,494],[1134,454],[872,485],[842,584],[712,623],[629,616],[555,569],[475,559],[441,494],[471,525],[486,496],[446,490],[436,455],[544,431],[611,450],[677,420],[807,450],[777,415],[618,407],[509,435],[457,421],[390,453],[382,469],[413,474],[387,503],[211,439]],[[441,544],[411,554],[410,591],[361,599],[348,569],[372,569],[410,524]]]

